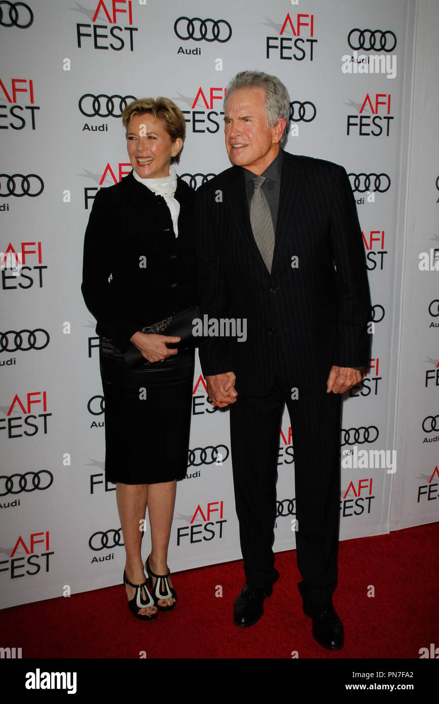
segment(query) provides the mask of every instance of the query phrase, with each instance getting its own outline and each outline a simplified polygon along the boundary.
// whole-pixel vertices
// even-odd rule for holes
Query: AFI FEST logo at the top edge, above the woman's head
[[[85,9],[75,9],[87,15]],[[132,26],[132,0],[99,0],[92,23],[76,25],[78,49],[92,45],[94,49],[122,51],[129,46],[134,51],[134,32],[138,31]]]

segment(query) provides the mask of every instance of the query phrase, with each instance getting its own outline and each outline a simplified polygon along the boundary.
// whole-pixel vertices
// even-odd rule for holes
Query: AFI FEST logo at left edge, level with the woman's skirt
[[[23,415],[15,415],[20,411]],[[38,411],[42,411],[42,413],[38,413]],[[12,415],[13,413],[14,415]],[[21,398],[16,394],[11,406],[9,406],[6,418],[0,418],[0,431],[7,429],[8,439],[23,436],[33,437],[39,431],[47,435],[47,419],[51,415],[51,413],[47,413],[46,391],[30,391],[25,396],[22,394]]]

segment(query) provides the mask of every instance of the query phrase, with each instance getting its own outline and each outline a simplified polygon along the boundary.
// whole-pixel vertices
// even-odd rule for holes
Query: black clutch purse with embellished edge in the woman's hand
[[[166,347],[187,349],[188,347],[196,346],[199,341],[199,338],[196,338],[193,335],[194,323],[192,320],[195,318],[200,318],[198,306],[185,308],[185,310],[180,310],[179,313],[174,313],[173,315],[169,315],[168,318],[165,318],[164,320],[155,322],[154,325],[141,327],[140,332],[144,332],[145,334],[180,337],[180,342],[169,343]],[[125,358],[125,362],[128,363],[130,367],[137,367],[137,365],[142,364],[142,362],[147,362],[135,345],[132,345],[128,352],[125,352],[123,356]]]

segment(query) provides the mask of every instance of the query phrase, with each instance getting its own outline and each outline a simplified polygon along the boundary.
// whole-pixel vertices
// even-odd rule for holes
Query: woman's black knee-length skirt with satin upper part
[[[100,350],[109,482],[156,484],[187,472],[194,350],[130,369],[111,340]]]

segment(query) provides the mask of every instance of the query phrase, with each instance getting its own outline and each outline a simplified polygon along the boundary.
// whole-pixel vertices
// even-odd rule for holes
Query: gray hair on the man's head
[[[224,99],[224,112],[226,111],[230,95],[240,88],[264,88],[266,91],[264,107],[268,127],[274,127],[279,118],[283,118],[288,125],[288,120],[290,120],[290,96],[283,82],[276,76],[270,76],[262,71],[241,71],[241,73],[238,73],[228,84]],[[286,129],[285,132],[287,132]]]

